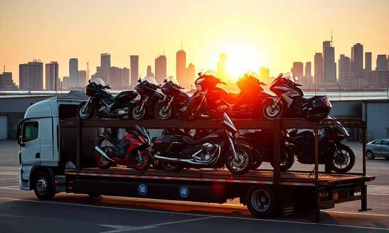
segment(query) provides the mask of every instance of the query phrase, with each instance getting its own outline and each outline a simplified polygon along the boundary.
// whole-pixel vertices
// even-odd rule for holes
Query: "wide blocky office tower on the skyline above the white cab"
[[[19,89],[43,90],[43,63],[40,60],[19,64]]]

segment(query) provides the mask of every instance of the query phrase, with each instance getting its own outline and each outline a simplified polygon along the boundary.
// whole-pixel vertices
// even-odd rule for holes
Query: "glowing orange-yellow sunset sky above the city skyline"
[[[355,43],[373,53],[373,68],[377,54],[389,54],[389,0],[0,0],[0,9],[0,72],[6,66],[17,84],[18,64],[57,61],[62,79],[71,57],[93,74],[104,52],[116,67],[140,55],[145,75],[165,51],[175,75],[181,35],[187,65],[216,69],[224,52],[233,75],[259,67],[277,75],[294,61],[313,69],[331,29],[336,62]]]

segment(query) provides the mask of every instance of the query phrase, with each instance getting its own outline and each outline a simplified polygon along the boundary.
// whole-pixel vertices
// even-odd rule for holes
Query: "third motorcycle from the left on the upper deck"
[[[190,97],[181,89],[184,88],[179,86],[174,80],[164,80],[161,91],[165,95],[165,100],[158,103],[155,107],[156,119],[170,120],[183,116]]]

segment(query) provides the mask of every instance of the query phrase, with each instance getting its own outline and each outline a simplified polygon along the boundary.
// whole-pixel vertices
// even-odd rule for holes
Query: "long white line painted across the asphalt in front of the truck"
[[[389,231],[389,228],[378,228],[378,227],[350,226],[350,225],[339,225],[339,224],[329,224],[329,223],[316,223],[316,222],[298,222],[298,221],[286,221],[286,220],[264,219],[264,218],[250,218],[250,217],[233,217],[233,216],[188,214],[188,213],[179,213],[179,212],[172,212],[172,211],[142,210],[142,209],[131,209],[131,208],[123,208],[123,207],[110,207],[110,206],[98,206],[98,205],[87,205],[87,204],[77,204],[77,203],[65,203],[65,202],[56,202],[56,201],[23,200],[23,199],[14,199],[14,198],[0,198],[0,200],[15,200],[15,201],[27,201],[27,202],[37,202],[37,203],[47,203],[47,204],[73,205],[73,206],[83,206],[83,207],[90,207],[90,208],[127,210],[127,211],[138,211],[138,212],[159,213],[159,214],[174,214],[174,215],[185,215],[185,216],[203,216],[203,217],[214,217],[214,218],[230,218],[230,219],[242,219],[242,220],[253,220],[253,221],[265,221],[265,222],[294,223],[294,224],[303,224],[303,225],[321,225],[321,226],[333,226],[333,227],[346,227],[346,228],[358,228],[358,229],[372,229],[372,230]],[[347,213],[347,212],[343,212],[343,213],[351,214],[351,213]],[[373,215],[373,214],[366,214],[366,215]],[[381,216],[381,215],[377,215],[377,216]]]

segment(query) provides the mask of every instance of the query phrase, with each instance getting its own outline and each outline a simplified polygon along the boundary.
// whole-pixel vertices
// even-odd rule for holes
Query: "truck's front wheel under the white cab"
[[[40,200],[52,200],[55,192],[53,180],[47,171],[39,171],[34,179],[35,196]]]

